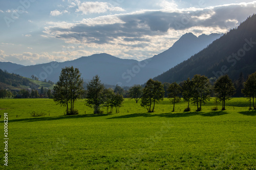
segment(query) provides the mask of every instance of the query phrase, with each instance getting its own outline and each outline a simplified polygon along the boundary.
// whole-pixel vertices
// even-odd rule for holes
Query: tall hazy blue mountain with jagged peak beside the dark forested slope
[[[186,33],[168,50],[153,58],[146,59],[148,61],[146,67],[156,69],[156,74],[154,76],[158,76],[164,71],[167,71],[175,65],[187,60],[192,55],[200,52],[212,41],[220,37],[220,34],[202,34],[197,37],[192,33]]]

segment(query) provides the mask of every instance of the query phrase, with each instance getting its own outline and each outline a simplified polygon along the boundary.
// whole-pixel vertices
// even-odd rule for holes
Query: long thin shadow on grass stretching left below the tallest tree
[[[62,115],[62,116],[53,116],[53,117],[32,117],[32,118],[20,118],[20,119],[12,119],[8,120],[9,123],[12,122],[37,122],[44,120],[60,120],[60,119],[68,119],[68,118],[83,118],[83,117],[100,117],[100,116],[108,116],[111,114],[77,114],[77,115]]]

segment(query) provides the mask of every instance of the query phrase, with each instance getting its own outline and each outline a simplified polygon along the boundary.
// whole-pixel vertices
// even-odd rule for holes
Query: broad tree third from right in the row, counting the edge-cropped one
[[[192,103],[196,103],[197,111],[201,111],[202,103],[205,104],[206,101],[210,100],[211,85],[209,79],[201,75],[195,75],[192,81],[194,84]]]

